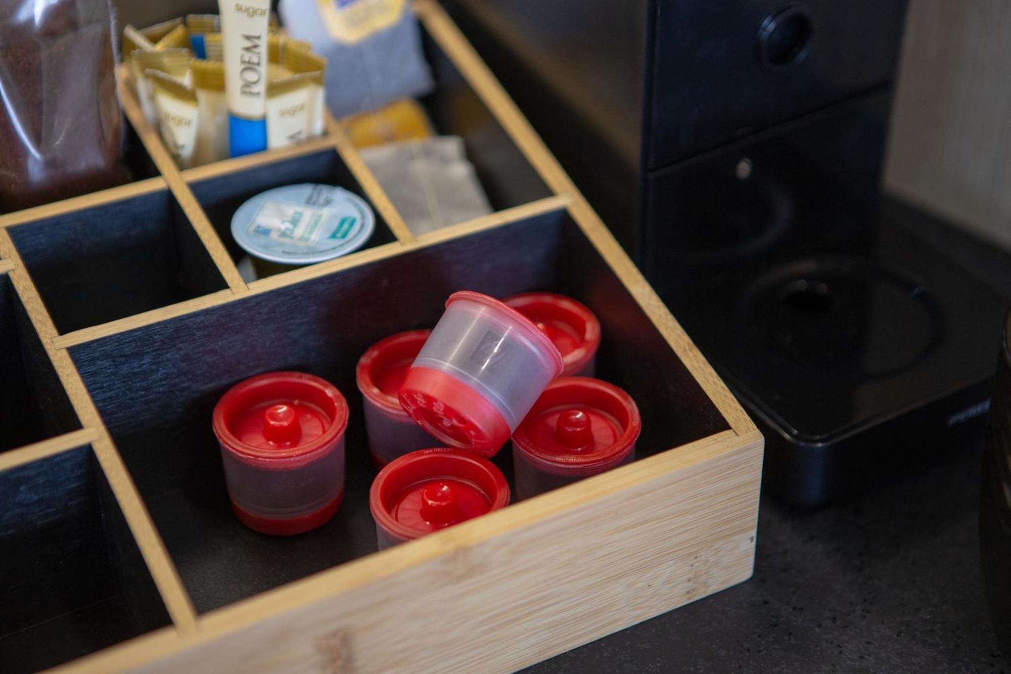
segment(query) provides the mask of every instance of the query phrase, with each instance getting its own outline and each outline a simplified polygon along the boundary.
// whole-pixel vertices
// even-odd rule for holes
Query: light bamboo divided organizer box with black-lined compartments
[[[160,174],[0,216],[0,671],[507,671],[750,576],[761,436],[440,7],[415,9],[423,103],[490,216],[412,236],[334,119],[180,172],[125,89]],[[300,181],[361,194],[375,235],[246,283],[232,212]],[[355,363],[463,288],[593,310],[637,460],[377,553]],[[210,412],[287,368],[347,397],[348,478],[332,521],[275,538],[233,516]]]

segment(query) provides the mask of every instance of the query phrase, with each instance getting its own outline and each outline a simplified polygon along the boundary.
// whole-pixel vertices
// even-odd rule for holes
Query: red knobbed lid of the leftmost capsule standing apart
[[[266,372],[232,387],[214,406],[221,446],[258,468],[304,466],[336,446],[348,403],[333,384],[304,372]]]

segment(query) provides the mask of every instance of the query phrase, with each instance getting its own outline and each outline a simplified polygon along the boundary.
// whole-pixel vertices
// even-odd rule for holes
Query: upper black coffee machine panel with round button
[[[889,84],[905,13],[905,0],[657,2],[647,168]]]

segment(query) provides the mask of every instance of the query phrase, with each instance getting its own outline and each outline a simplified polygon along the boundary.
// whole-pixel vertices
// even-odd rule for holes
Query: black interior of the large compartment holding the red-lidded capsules
[[[599,376],[642,412],[638,456],[727,428],[663,336],[559,210],[413,250],[71,348],[200,611],[376,550],[355,365],[380,338],[431,328],[451,292],[553,290],[601,319]],[[276,369],[333,382],[351,406],[344,503],[329,523],[290,538],[233,515],[211,410],[235,383]],[[129,372],[129,376],[123,376]],[[495,462],[512,478],[505,446]]]

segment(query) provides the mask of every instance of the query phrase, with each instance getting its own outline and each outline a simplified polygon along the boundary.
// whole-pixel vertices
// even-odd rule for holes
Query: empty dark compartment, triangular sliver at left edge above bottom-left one
[[[0,451],[81,427],[7,274],[0,274]]]

